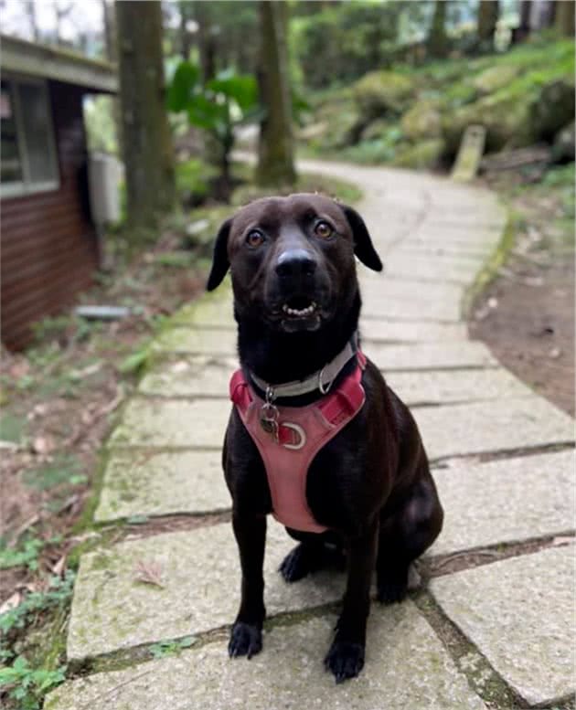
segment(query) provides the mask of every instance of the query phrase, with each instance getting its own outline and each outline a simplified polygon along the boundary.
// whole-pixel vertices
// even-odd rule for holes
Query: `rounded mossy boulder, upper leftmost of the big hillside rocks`
[[[354,101],[367,121],[400,114],[414,94],[413,80],[395,71],[370,71],[353,86]]]

